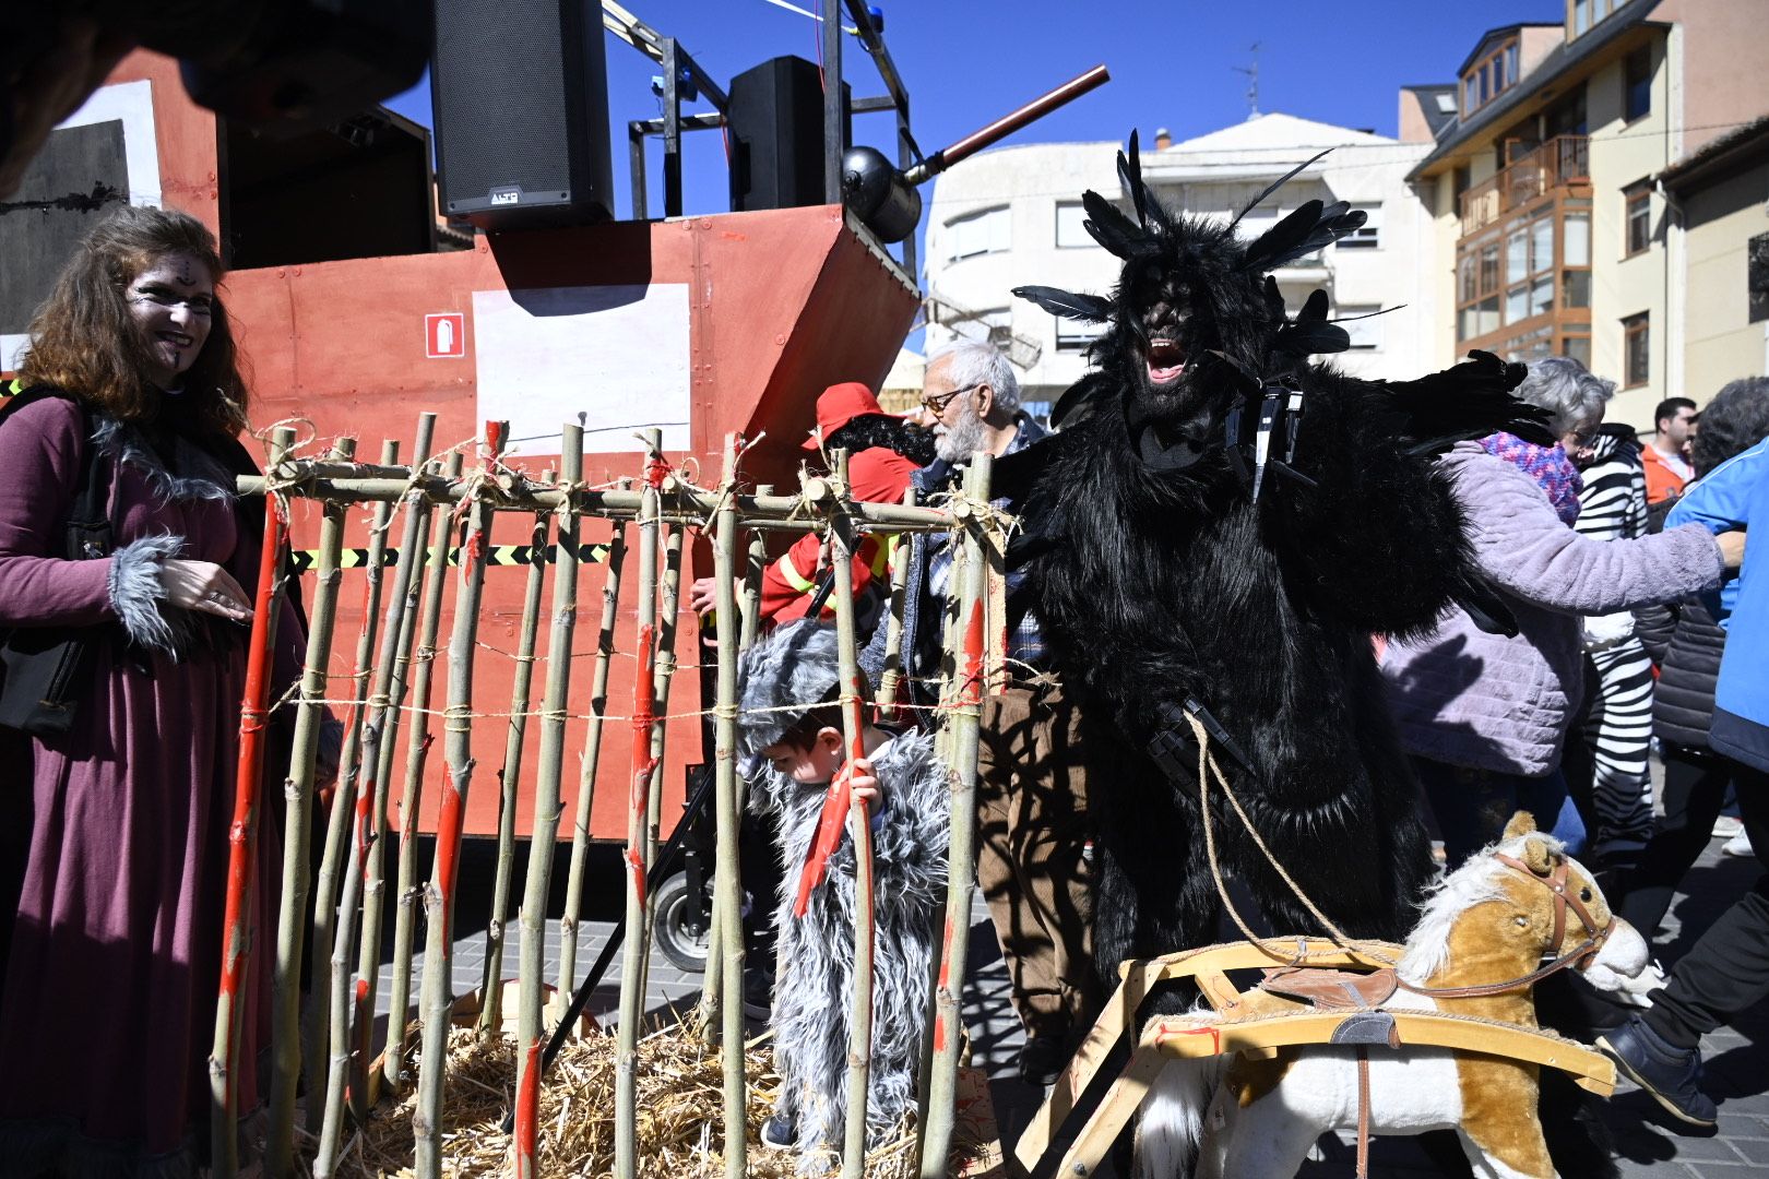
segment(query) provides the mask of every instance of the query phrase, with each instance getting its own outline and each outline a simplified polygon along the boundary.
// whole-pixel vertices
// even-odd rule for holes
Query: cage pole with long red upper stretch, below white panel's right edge
[[[660,431],[646,431],[646,486],[639,511],[639,672],[633,677],[632,795],[626,802],[626,940],[621,955],[621,1022],[614,1055],[614,1174],[639,1175],[639,1020],[644,1013],[646,928],[646,817],[651,781],[651,712],[658,596],[658,488],[663,463]]]

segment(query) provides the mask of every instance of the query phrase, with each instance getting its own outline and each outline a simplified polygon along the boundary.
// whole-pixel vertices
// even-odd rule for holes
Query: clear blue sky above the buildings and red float
[[[768,0],[626,0],[626,7],[676,37],[720,85],[770,57],[817,60],[819,25]],[[1252,64],[1254,42],[1261,111],[1394,134],[1399,87],[1449,81],[1488,28],[1557,21],[1564,11],[1562,0],[886,0],[883,9],[886,44],[909,87],[913,131],[927,152],[1100,62],[1111,69],[1109,83],[1008,141],[1123,140],[1139,127],[1146,145],[1155,127],[1169,127],[1175,140],[1224,127],[1247,115],[1247,78],[1235,67]],[[858,41],[844,41],[854,94],[883,94]],[[612,37],[607,55],[610,120],[619,127],[617,212],[628,216],[624,126],[656,117],[656,65]],[[389,106],[428,126],[428,80]],[[892,117],[856,117],[854,141],[895,156]],[[653,216],[662,210],[660,159],[653,141]],[[727,207],[718,133],[686,136],[683,173],[686,212]]]

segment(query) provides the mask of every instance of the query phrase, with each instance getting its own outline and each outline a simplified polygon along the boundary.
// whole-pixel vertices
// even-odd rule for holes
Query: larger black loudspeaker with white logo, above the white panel
[[[598,0],[437,0],[430,94],[442,210],[483,230],[614,212]]]

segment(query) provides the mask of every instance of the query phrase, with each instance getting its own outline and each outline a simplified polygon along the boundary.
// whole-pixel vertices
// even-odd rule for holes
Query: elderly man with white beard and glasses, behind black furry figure
[[[1019,408],[1019,382],[999,350],[959,341],[927,359],[922,407],[934,419],[939,458],[915,474],[923,498],[955,490],[976,451],[1021,451],[1045,430]],[[941,610],[952,548],[916,536],[909,548],[904,652],[909,673],[939,673]],[[1049,1085],[1099,1008],[1088,935],[1091,864],[1081,726],[1045,670],[1038,620],[1008,578],[1010,684],[985,702],[978,755],[976,880],[1026,1025],[1021,1076]],[[883,635],[884,628],[879,628]]]

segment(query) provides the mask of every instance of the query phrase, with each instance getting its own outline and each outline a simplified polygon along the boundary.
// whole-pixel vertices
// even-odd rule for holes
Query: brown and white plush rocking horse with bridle
[[[1438,1013],[1509,1025],[1491,1027],[1502,1036],[1537,1027],[1534,985],[1566,967],[1633,1002],[1661,983],[1645,940],[1610,912],[1590,873],[1518,811],[1498,843],[1435,889],[1392,972],[1268,970],[1226,1009],[1171,1023],[1191,1025],[1180,1032],[1214,1029],[1222,1043],[1249,1022],[1369,1011],[1378,1022],[1401,1016],[1385,1022],[1396,1045],[1406,1039],[1403,1013]],[[1336,1043],[1346,1039],[1357,1038],[1334,1034]],[[1581,1052],[1548,1034],[1535,1039],[1546,1043],[1546,1064],[1566,1068],[1566,1057]],[[1557,1045],[1567,1052],[1557,1053]],[[1359,1128],[1360,1165],[1367,1135],[1454,1130],[1477,1175],[1546,1179],[1557,1172],[1537,1119],[1539,1064],[1504,1052],[1495,1038],[1488,1050],[1295,1045],[1182,1059],[1168,1064],[1145,1110],[1168,1103],[1171,1117],[1173,1103],[1196,1112],[1208,1101],[1201,1124],[1192,1121],[1203,1140],[1198,1179],[1293,1175],[1323,1131],[1343,1128]],[[1191,1161],[1139,1156],[1137,1175],[1183,1175]]]

